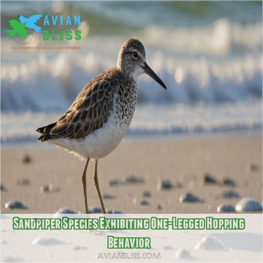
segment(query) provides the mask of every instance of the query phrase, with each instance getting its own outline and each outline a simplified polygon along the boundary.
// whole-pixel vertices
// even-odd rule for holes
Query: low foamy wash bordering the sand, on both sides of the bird
[[[54,122],[62,112],[2,112],[1,143],[36,142],[37,127]],[[195,135],[262,130],[262,102],[220,105],[138,105],[129,136]]]

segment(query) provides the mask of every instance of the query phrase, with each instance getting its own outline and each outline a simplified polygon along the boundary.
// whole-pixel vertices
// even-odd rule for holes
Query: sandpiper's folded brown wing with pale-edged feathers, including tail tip
[[[36,130],[43,134],[39,141],[85,138],[100,128],[107,121],[113,103],[114,83],[109,79],[115,73],[111,69],[92,79],[57,122]]]

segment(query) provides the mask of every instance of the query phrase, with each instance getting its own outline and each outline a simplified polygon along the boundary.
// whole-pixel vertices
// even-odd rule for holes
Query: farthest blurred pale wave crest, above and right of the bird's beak
[[[146,43],[177,52],[227,55],[231,52],[261,51],[262,23],[241,25],[219,18],[213,24],[195,27],[160,27],[144,30]]]

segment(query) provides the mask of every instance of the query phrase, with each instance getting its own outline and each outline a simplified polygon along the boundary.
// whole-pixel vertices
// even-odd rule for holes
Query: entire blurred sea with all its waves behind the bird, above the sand
[[[81,49],[12,50],[8,21],[25,7],[80,13],[81,41],[46,42],[40,33],[32,46]],[[167,91],[139,77],[127,136],[261,133],[261,1],[1,1],[1,142],[35,142],[36,127],[57,120],[91,78],[116,66],[128,37],[144,44]]]

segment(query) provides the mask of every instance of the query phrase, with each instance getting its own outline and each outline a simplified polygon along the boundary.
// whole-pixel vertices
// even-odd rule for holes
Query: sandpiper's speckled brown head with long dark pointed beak
[[[137,39],[128,39],[123,43],[119,52],[117,67],[124,74],[132,76],[134,79],[137,79],[140,74],[146,73],[166,89],[161,79],[147,65],[144,46]]]

